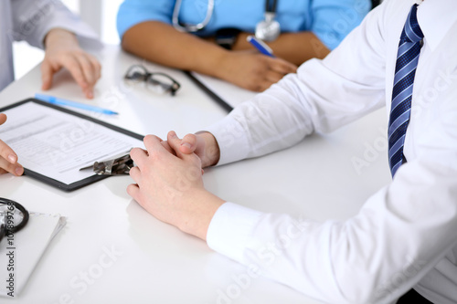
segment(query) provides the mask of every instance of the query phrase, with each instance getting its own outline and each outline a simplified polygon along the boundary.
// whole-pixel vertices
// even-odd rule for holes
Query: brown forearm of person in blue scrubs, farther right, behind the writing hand
[[[234,50],[253,49],[246,38],[250,33],[240,33]],[[283,33],[267,43],[274,55],[299,66],[311,58],[324,58],[330,50],[312,32]]]

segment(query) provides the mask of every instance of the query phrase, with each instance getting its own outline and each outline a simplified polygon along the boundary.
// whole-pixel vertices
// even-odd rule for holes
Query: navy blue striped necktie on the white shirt
[[[403,155],[405,134],[411,111],[412,86],[418,66],[421,40],[424,37],[417,18],[418,5],[412,5],[408,20],[401,32],[395,66],[392,105],[388,121],[388,162],[392,177],[406,162]]]

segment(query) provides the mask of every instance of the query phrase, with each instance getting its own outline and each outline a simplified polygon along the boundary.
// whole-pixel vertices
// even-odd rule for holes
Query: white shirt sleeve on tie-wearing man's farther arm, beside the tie
[[[382,11],[372,13],[324,60],[308,60],[297,74],[208,128],[221,148],[218,164],[288,148],[314,131],[334,131],[381,108],[386,46],[379,28]],[[373,27],[379,35],[368,33]]]

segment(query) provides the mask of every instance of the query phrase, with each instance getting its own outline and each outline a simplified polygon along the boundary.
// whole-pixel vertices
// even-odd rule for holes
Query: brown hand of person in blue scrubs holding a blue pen
[[[253,91],[264,91],[297,67],[281,58],[271,58],[257,51],[231,51],[220,61],[218,78]]]

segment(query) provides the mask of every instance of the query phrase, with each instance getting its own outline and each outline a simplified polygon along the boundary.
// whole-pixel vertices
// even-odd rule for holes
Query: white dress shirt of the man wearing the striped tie
[[[289,147],[383,105],[388,114],[399,37],[415,2],[384,1],[327,58],[304,63],[209,128],[219,163]],[[298,223],[228,202],[209,225],[208,246],[326,303],[393,303],[412,287],[434,303],[457,303],[456,12],[456,0],[418,7],[425,37],[408,162],[392,183],[345,221]],[[274,263],[269,243],[282,249]]]

